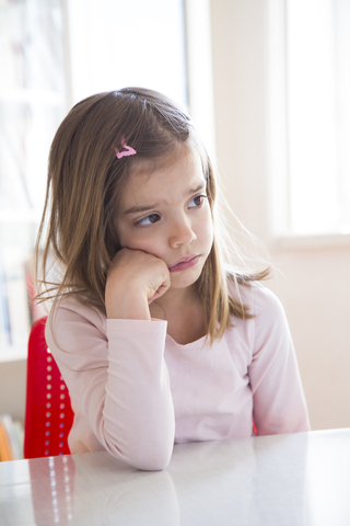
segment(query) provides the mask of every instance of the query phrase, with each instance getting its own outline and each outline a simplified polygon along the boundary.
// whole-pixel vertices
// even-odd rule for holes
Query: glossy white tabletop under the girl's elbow
[[[350,428],[180,444],[164,471],[107,453],[0,462],[0,524],[350,525]]]

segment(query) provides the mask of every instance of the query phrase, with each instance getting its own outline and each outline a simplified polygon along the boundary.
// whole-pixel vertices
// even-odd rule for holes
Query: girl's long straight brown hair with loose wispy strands
[[[78,103],[59,126],[49,153],[36,244],[38,282],[45,285],[38,299],[56,302],[75,295],[78,300],[105,312],[107,271],[120,249],[115,228],[118,198],[133,161],[133,156],[116,158],[115,148],[120,149],[122,140],[132,145],[138,159],[164,157],[178,146],[196,148],[200,153],[214,241],[197,286],[212,342],[231,324],[230,316],[250,317],[240,297],[230,295],[229,282],[235,286],[248,284],[268,272],[235,271],[236,262],[224,258],[210,159],[186,113],[151,90],[125,88],[90,96]],[[62,272],[59,283],[49,278],[52,258]],[[228,272],[225,264],[233,270]]]

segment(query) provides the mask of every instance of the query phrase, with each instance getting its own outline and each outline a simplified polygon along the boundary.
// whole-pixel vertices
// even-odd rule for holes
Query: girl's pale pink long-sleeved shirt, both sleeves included
[[[212,346],[176,343],[166,321],[107,320],[61,300],[46,340],[72,401],[71,453],[162,469],[174,442],[252,436],[253,420],[259,435],[310,430],[283,308],[261,285],[241,288],[254,318],[233,318]]]

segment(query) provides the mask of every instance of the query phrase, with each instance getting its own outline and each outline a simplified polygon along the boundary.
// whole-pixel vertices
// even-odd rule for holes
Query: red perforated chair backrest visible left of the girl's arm
[[[45,341],[47,317],[37,320],[28,340],[24,458],[70,454],[73,411],[67,386]]]

